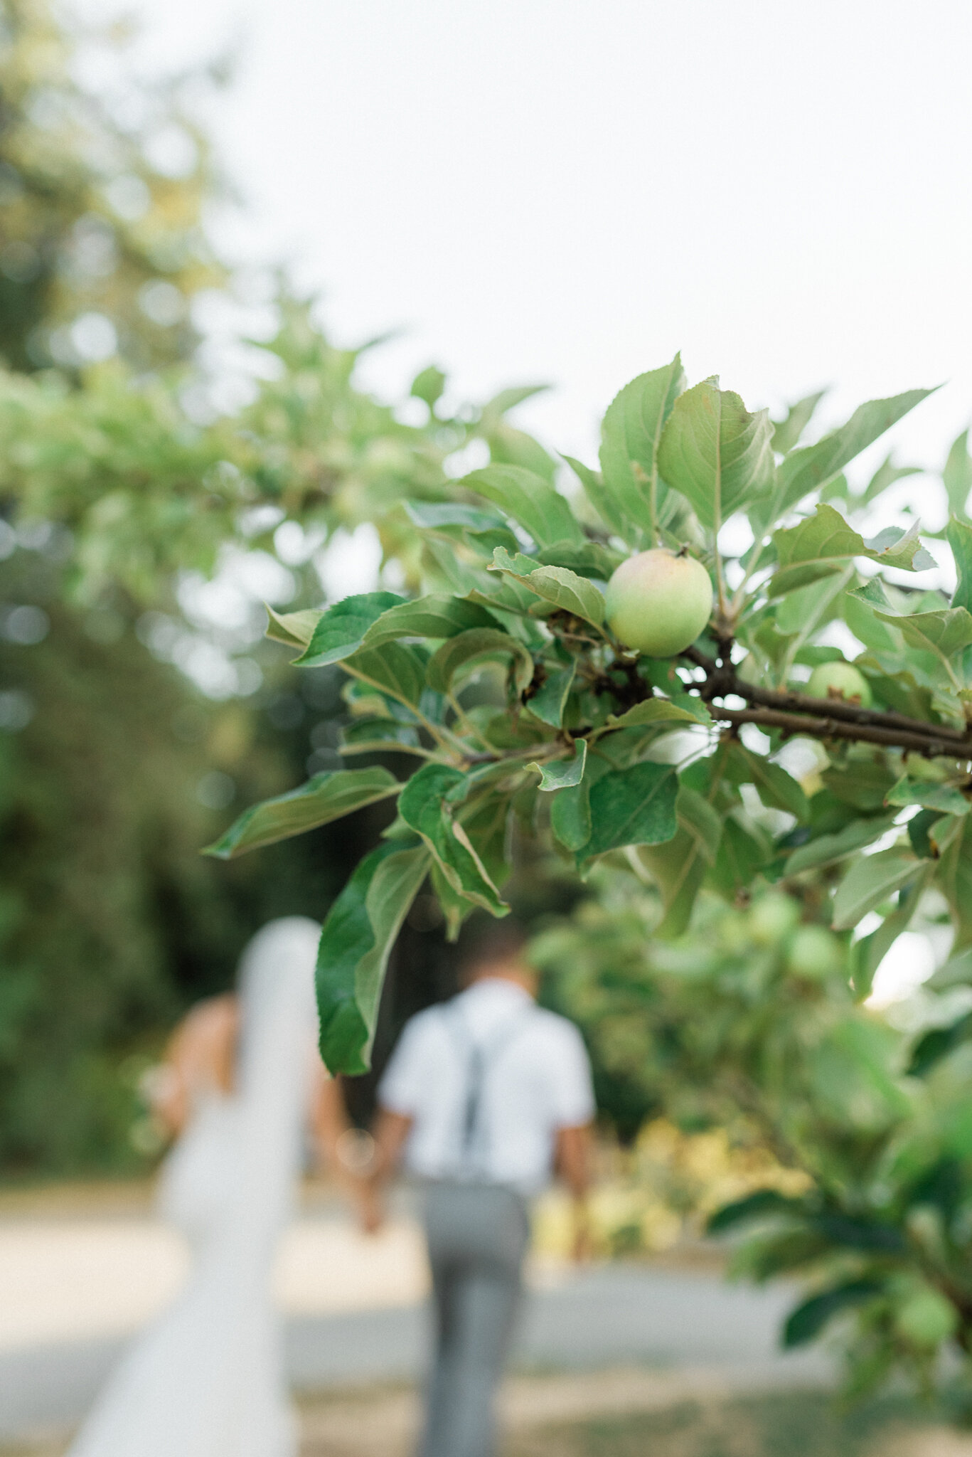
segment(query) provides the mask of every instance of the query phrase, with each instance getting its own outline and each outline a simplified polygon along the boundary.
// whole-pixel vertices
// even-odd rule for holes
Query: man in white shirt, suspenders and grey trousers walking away
[[[522,1294],[528,1201],[554,1170],[584,1240],[590,1065],[577,1029],[542,1011],[525,937],[490,922],[472,940],[466,989],[407,1024],[379,1084],[363,1222],[404,1155],[426,1187],[436,1356],[420,1457],[490,1457],[494,1394]]]

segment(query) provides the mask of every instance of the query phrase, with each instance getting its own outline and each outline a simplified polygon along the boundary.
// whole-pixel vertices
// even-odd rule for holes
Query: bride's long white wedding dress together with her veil
[[[68,1457],[296,1457],[270,1276],[312,1088],[319,931],[303,916],[273,921],[243,953],[238,1093],[198,1100],[162,1174],[192,1273],[122,1358]]]

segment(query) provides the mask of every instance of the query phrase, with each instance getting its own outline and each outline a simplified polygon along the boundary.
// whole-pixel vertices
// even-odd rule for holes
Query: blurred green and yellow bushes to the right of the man
[[[854,1004],[818,879],[745,908],[704,893],[695,934],[666,943],[657,890],[614,867],[533,959],[628,1126],[650,1119],[602,1244],[729,1234],[733,1273],[801,1279],[784,1345],[836,1327],[850,1394],[902,1374],[930,1393],[972,1329],[968,953],[896,1017]],[[924,915],[933,930],[944,908]],[[953,1396],[968,1416],[968,1365]]]

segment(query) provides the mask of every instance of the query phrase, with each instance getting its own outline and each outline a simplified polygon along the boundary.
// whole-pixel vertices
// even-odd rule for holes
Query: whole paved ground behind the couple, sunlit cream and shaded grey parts
[[[178,1294],[187,1250],[149,1199],[146,1186],[0,1202],[0,1441],[76,1423],[127,1342]],[[393,1214],[369,1238],[326,1187],[305,1192],[274,1279],[297,1390],[338,1393],[421,1372],[428,1281],[408,1190]],[[651,1368],[667,1372],[662,1390],[676,1368],[749,1387],[831,1378],[818,1352],[777,1348],[788,1291],[727,1285],[711,1260],[576,1271],[535,1259],[529,1285],[514,1356],[522,1372],[628,1367],[641,1381]],[[402,1403],[414,1410],[405,1393]]]

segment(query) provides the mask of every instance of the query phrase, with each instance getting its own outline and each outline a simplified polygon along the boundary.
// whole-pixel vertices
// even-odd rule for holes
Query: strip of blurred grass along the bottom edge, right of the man
[[[842,1413],[826,1394],[793,1391],[525,1432],[504,1457],[972,1457],[972,1440],[946,1434],[941,1445],[931,1431],[927,1415],[902,1402]]]

